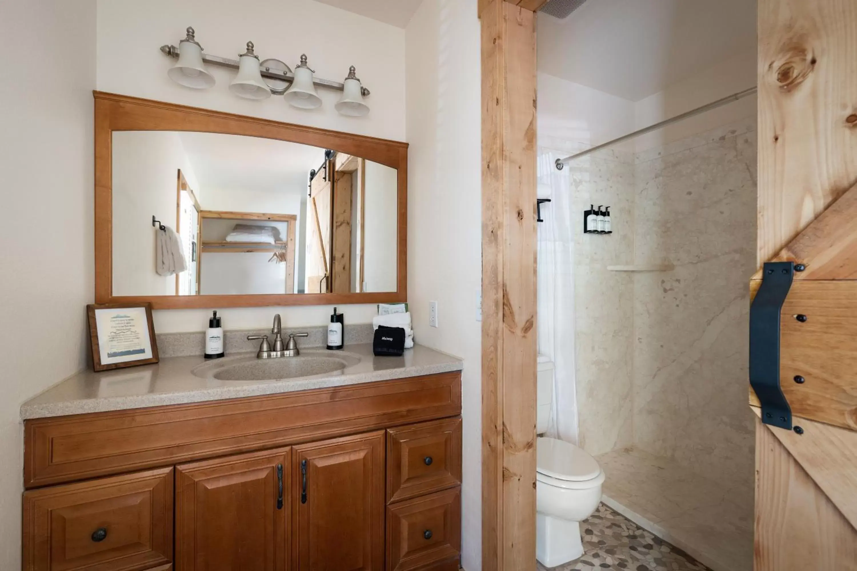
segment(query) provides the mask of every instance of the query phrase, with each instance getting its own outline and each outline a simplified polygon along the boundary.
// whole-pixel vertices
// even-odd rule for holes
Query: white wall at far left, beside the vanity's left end
[[[0,44],[0,568],[21,568],[21,402],[87,364],[95,3],[4,2]]]

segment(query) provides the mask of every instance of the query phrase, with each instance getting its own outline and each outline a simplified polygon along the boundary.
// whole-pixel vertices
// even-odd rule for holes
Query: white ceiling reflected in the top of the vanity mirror
[[[203,202],[206,188],[305,193],[309,170],[319,168],[324,160],[324,149],[282,140],[218,133],[179,136]]]

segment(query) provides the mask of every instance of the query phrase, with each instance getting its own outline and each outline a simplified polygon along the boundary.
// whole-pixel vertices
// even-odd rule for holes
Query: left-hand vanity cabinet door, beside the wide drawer
[[[176,472],[177,571],[285,571],[291,449],[194,462]]]

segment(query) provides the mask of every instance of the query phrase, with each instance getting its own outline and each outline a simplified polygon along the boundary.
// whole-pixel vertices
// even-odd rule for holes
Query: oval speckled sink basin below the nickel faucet
[[[220,381],[271,381],[342,371],[346,366],[354,364],[335,357],[298,355],[279,359],[243,360],[214,371],[211,377]]]

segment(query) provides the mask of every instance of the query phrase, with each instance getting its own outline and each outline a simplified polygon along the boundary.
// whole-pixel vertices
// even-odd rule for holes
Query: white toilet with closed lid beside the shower
[[[548,430],[554,399],[554,366],[538,359],[536,431]],[[601,502],[604,473],[595,458],[572,443],[536,438],[536,559],[556,567],[584,554],[580,521]]]

